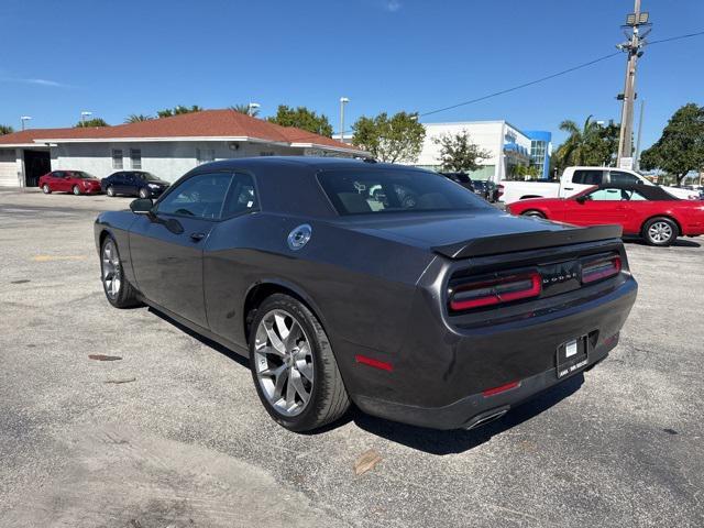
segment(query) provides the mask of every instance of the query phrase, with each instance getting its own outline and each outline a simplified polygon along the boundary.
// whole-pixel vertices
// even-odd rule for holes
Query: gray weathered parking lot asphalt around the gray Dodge
[[[620,344],[499,421],[296,435],[246,361],[107,302],[92,221],[128,202],[0,190],[2,526],[704,525],[704,241],[629,242]]]

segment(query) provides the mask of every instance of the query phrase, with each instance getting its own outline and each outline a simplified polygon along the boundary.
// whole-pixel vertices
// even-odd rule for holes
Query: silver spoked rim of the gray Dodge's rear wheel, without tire
[[[254,358],[268,404],[283,416],[302,413],[312,394],[314,359],[300,322],[286,310],[266,314],[256,329]]]

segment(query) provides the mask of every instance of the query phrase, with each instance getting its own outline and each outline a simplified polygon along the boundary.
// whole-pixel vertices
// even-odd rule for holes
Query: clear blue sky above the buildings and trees
[[[651,40],[704,30],[702,0],[642,0]],[[304,105],[338,129],[380,111],[426,112],[615,51],[631,0],[2,0],[0,123],[109,123],[175,105]],[[704,105],[704,36],[653,45],[639,64],[644,144]],[[426,121],[506,119],[553,132],[619,119],[624,56]]]

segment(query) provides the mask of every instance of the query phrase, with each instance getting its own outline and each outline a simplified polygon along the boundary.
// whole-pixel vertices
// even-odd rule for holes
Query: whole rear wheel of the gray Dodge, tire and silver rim
[[[267,413],[292,431],[318,429],[350,407],[330,340],[318,318],[293,297],[275,294],[258,307],[250,366]]]

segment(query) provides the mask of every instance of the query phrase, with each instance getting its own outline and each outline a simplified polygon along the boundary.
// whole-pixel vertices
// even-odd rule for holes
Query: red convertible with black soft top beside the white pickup
[[[651,245],[670,245],[678,237],[704,234],[704,201],[681,200],[650,185],[603,185],[570,198],[531,198],[510,204],[514,215],[575,226],[618,223],[625,235]]]

